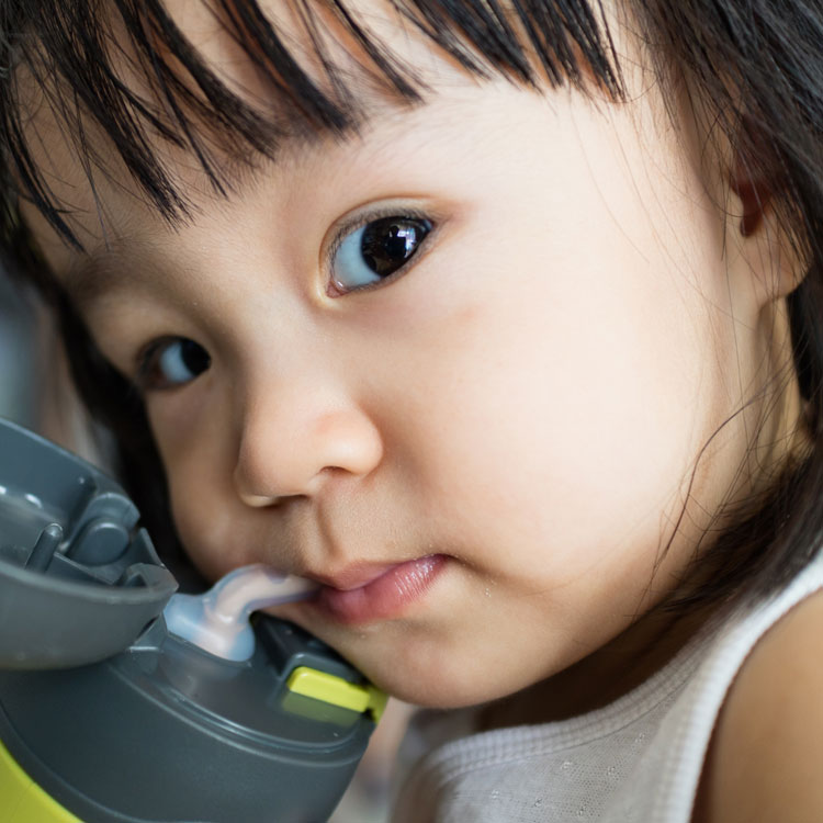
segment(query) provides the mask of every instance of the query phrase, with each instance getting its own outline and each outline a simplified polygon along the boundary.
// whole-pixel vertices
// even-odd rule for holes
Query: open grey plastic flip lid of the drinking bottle
[[[123,489],[0,418],[0,668],[127,649],[177,589]]]

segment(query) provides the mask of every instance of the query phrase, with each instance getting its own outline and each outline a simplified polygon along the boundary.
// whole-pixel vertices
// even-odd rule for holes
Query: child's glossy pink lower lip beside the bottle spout
[[[343,623],[368,623],[399,617],[426,594],[444,562],[442,555],[433,554],[401,563],[364,586],[348,591],[324,586],[315,602]]]

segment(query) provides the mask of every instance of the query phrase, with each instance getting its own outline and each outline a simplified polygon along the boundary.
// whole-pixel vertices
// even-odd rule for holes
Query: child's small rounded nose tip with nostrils
[[[247,409],[234,472],[244,503],[260,507],[313,496],[335,473],[365,476],[380,464],[383,442],[363,409],[323,405],[281,397]]]

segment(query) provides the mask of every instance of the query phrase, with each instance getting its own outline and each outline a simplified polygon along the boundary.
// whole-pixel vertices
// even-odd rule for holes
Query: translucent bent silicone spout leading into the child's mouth
[[[258,563],[236,568],[202,595],[173,595],[164,610],[171,634],[224,659],[247,661],[255,653],[249,617],[257,609],[311,597],[317,585],[281,575]]]

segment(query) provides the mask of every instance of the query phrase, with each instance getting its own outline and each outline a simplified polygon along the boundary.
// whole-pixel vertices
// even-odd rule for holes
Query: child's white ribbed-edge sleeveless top
[[[401,749],[401,763],[416,762],[393,823],[688,823],[735,675],[763,634],[821,588],[818,555],[777,597],[692,640],[588,714],[472,734],[470,710],[421,712]]]

